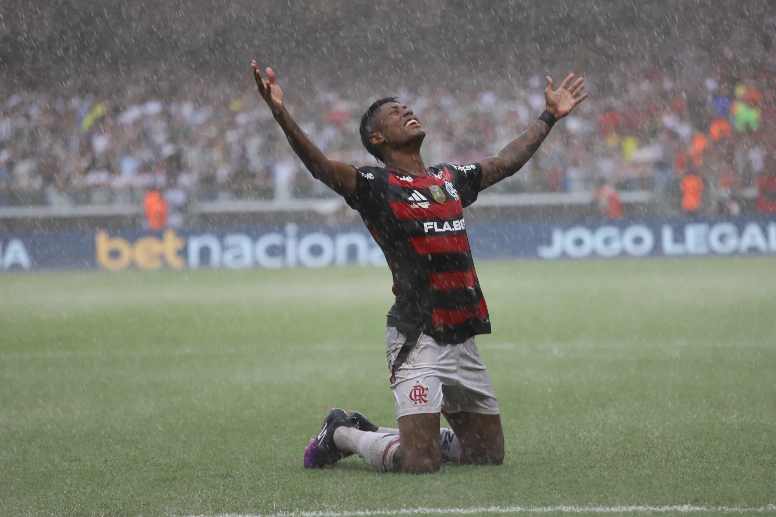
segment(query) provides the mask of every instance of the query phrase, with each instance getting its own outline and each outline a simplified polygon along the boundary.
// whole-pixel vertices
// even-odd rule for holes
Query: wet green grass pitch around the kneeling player
[[[0,515],[776,503],[776,260],[481,262],[501,467],[302,452],[393,425],[377,268],[0,276]]]

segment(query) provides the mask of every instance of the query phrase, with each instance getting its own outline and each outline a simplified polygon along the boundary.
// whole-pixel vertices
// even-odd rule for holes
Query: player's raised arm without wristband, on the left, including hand
[[[272,116],[275,117],[283,133],[286,134],[291,148],[310,174],[341,196],[351,196],[355,193],[355,168],[342,161],[326,158],[315,142],[291,118],[286,106],[283,105],[283,92],[275,82],[272,68],[267,68],[266,81],[262,77],[262,72],[258,71],[256,61],[251,63],[251,68],[253,68],[258,93],[267,102],[269,109],[272,109]]]

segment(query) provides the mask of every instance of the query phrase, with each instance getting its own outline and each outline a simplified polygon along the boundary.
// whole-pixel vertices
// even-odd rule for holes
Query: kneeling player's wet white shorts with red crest
[[[386,329],[388,371],[407,340],[395,327]],[[391,378],[396,418],[417,413],[471,411],[498,415],[498,404],[480,352],[469,338],[444,345],[421,334],[417,345]]]

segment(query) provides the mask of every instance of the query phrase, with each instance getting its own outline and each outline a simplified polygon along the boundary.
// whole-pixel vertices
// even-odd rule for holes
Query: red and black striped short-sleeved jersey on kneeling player
[[[443,343],[490,333],[463,220],[481,176],[480,164],[434,165],[423,176],[357,168],[355,194],[345,200],[361,214],[393,273],[390,327]]]

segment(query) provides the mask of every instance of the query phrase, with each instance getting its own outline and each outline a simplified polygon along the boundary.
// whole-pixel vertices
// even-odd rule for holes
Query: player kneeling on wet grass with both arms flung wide
[[[358,210],[386,255],[396,295],[386,356],[399,429],[332,409],[305,449],[304,467],[352,453],[378,470],[415,474],[435,472],[442,460],[502,463],[498,404],[474,343],[475,335],[490,333],[490,317],[462,210],[481,190],[517,172],[556,120],[587,97],[582,78],[572,83],[569,75],[553,92],[548,77],[544,113],[496,156],[470,165],[425,167],[420,120],[397,99],[380,99],[362,116],[359,131],[385,167],[355,167],[326,158],[289,115],[272,69],[265,80],[255,61],[251,66],[259,93],[304,165]],[[440,414],[451,429],[440,428]]]

